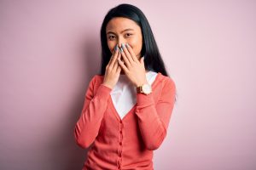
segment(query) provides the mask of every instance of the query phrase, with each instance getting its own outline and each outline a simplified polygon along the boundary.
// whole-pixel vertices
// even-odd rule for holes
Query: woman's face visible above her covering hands
[[[115,17],[109,20],[106,27],[108,48],[113,53],[116,44],[119,48],[122,43],[129,43],[137,59],[141,58],[143,48],[143,34],[140,26],[133,20],[124,17]]]

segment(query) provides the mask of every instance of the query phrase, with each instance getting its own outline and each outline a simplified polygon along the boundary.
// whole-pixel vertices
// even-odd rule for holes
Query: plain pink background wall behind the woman
[[[160,170],[256,169],[256,2],[0,2],[0,169],[81,169],[73,138],[108,9],[147,16],[177,85]]]

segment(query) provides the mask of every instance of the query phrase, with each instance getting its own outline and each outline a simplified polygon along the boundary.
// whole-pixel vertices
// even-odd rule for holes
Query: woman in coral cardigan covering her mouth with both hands
[[[102,70],[90,81],[74,136],[90,147],[84,169],[153,169],[175,103],[154,35],[143,12],[120,4],[101,28]]]

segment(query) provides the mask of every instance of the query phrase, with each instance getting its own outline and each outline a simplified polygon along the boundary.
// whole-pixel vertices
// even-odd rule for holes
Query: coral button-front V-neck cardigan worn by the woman
[[[96,75],[84,97],[84,107],[74,127],[74,137],[87,149],[83,170],[151,170],[153,150],[166,138],[175,102],[176,86],[171,77],[158,72],[151,94],[137,94],[137,104],[123,119],[113,106],[111,88]]]

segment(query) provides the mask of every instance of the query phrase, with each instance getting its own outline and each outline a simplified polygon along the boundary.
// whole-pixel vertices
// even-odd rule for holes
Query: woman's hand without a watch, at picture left
[[[105,76],[103,85],[108,88],[113,88],[119,80],[121,67],[118,64],[118,57],[120,56],[119,48],[114,50],[111,58],[109,59],[108,65],[106,66]]]

